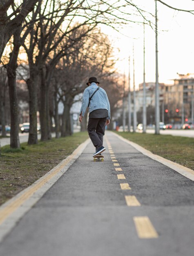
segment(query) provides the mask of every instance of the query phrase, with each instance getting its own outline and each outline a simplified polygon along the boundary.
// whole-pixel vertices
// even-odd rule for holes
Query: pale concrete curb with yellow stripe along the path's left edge
[[[90,139],[80,144],[74,152],[65,158],[51,171],[22,190],[0,207],[0,242],[13,229],[22,216],[29,211],[40,198],[55,184],[55,182],[68,170],[68,168],[81,155],[89,144]]]

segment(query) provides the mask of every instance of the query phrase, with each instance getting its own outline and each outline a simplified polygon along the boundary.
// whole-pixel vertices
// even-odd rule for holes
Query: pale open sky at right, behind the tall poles
[[[167,4],[179,8],[194,10],[192,0],[163,0]],[[154,0],[134,0],[142,9],[155,14]],[[172,84],[171,79],[179,74],[194,73],[194,15],[175,11],[160,2],[158,9],[158,73],[159,83]],[[154,20],[153,20],[154,21]],[[103,27],[108,34],[114,48],[119,49],[119,61],[116,67],[120,73],[129,74],[129,56],[131,86],[133,85],[133,44],[135,61],[135,85],[138,88],[143,83],[143,25],[130,24],[120,29],[120,33]],[[148,25],[145,26],[145,80],[155,81],[156,73],[155,32]],[[116,52],[116,51],[115,51]],[[194,75],[193,75],[194,76]]]

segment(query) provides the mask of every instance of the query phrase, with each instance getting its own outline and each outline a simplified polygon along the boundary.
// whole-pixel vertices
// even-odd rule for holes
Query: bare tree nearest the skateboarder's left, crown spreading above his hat
[[[76,50],[77,48],[77,50]],[[61,136],[71,135],[70,109],[75,96],[85,90],[89,76],[105,77],[113,72],[110,42],[99,29],[74,45],[74,52],[67,54],[60,65],[60,92],[64,105]]]

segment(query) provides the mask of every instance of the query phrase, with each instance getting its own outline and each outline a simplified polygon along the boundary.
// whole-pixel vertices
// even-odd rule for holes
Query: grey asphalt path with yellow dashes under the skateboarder
[[[104,162],[87,146],[4,238],[1,256],[194,255],[194,182],[111,132],[104,145]]]

